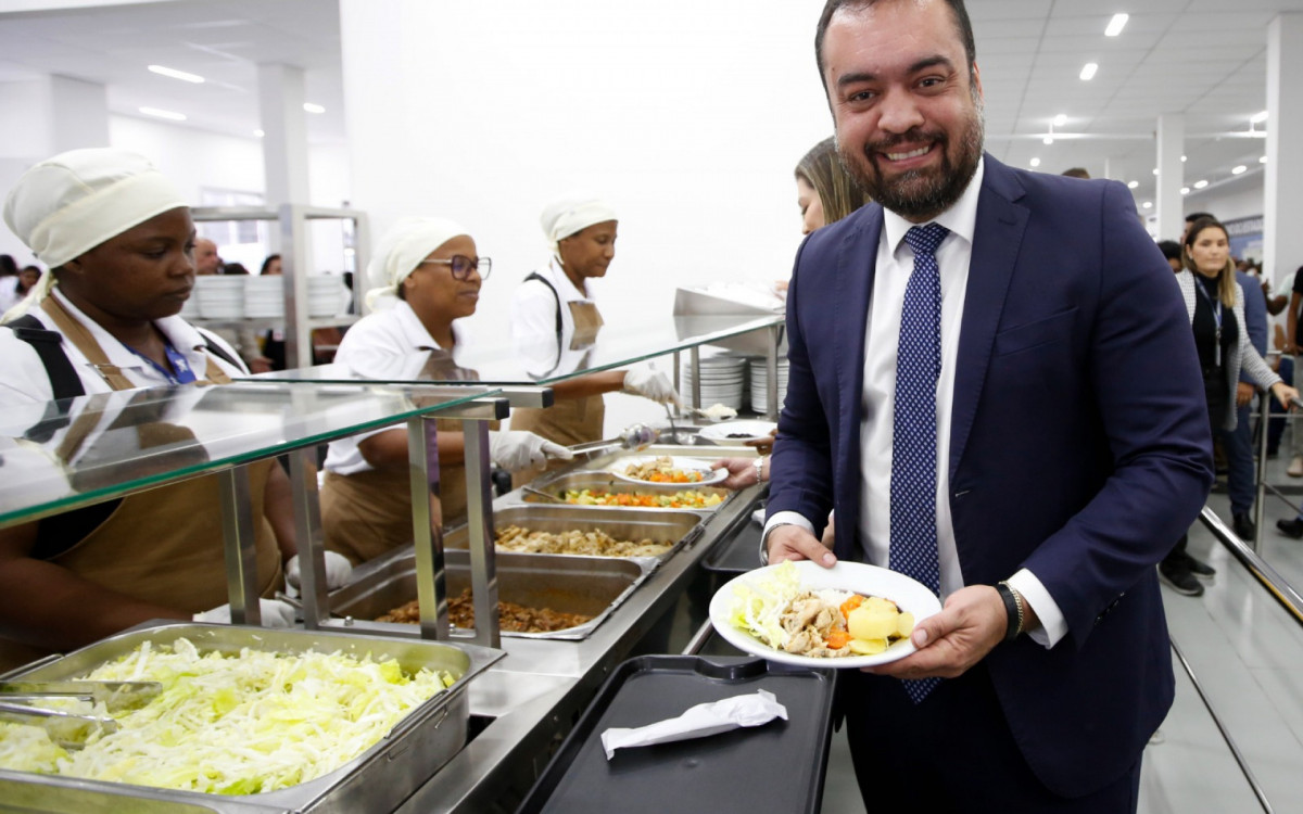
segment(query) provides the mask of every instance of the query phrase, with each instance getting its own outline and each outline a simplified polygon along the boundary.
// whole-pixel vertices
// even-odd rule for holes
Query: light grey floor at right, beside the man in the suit
[[[1268,482],[1287,487],[1287,458],[1269,461]],[[1299,500],[1299,496],[1291,496]],[[1225,520],[1230,505],[1214,492],[1208,504]],[[1303,591],[1303,540],[1276,531],[1294,516],[1268,496],[1261,556]],[[1303,814],[1303,625],[1234,560],[1203,524],[1191,529],[1190,551],[1217,568],[1200,598],[1166,587],[1167,624],[1208,701],[1222,719],[1273,810]],[[1177,701],[1161,736],[1145,750],[1141,814],[1263,810],[1230,749],[1179,662]],[[846,737],[835,735],[823,788],[823,814],[865,811],[855,785]]]

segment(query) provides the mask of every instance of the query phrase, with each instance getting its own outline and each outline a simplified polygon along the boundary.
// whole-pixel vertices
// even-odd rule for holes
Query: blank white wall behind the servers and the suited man
[[[539,211],[572,190],[620,214],[612,327],[668,315],[680,284],[786,279],[792,169],[833,129],[821,5],[341,0],[353,202],[373,241],[401,215],[466,225],[494,259],[477,328],[506,331],[546,259]]]

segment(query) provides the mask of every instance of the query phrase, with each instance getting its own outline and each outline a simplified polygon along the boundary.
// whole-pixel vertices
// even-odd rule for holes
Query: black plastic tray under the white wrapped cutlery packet
[[[607,679],[517,814],[816,814],[833,731],[833,673],[753,656],[629,659]],[[611,761],[602,750],[602,732],[611,727],[642,727],[758,689],[787,707],[786,722],[620,749]]]

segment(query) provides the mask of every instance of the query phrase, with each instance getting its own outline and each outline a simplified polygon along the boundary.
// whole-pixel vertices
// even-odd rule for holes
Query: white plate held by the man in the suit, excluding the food
[[[732,602],[734,587],[756,580],[764,580],[767,576],[767,572],[771,572],[774,568],[778,568],[778,565],[757,568],[756,570],[734,577],[718,591],[715,591],[714,596],[710,598],[710,621],[714,624],[719,636],[724,637],[724,641],[734,647],[737,647],[744,653],[769,659],[770,662],[822,668],[873,667],[874,664],[886,664],[889,662],[895,662],[896,659],[903,659],[913,653],[913,643],[906,638],[891,645],[877,655],[851,655],[834,659],[817,659],[813,656],[792,655],[790,653],[783,653],[782,650],[775,650],[753,637],[751,633],[732,626],[732,624],[728,623],[728,606]],[[916,624],[933,613],[941,612],[941,600],[937,599],[937,595],[928,590],[926,586],[902,573],[896,573],[886,568],[847,561],[838,561],[838,564],[833,568],[822,568],[809,560],[803,560],[796,563],[796,569],[800,573],[803,587],[809,590],[834,587],[837,590],[853,591],[866,596],[882,596],[896,603],[902,611],[909,611],[913,613]]]

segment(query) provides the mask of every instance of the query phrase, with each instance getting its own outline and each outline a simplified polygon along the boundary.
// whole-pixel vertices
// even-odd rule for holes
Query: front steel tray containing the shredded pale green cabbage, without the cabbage
[[[99,780],[77,780],[0,770],[0,807],[22,811],[388,811],[429,780],[466,741],[468,682],[503,658],[476,645],[395,639],[324,630],[278,630],[195,623],[151,623],[119,633],[65,656],[17,673],[26,680],[86,675],[149,641],[155,646],[189,638],[203,653],[236,654],[242,647],[276,653],[310,650],[394,658],[405,671],[422,667],[457,676],[447,692],[409,712],[378,744],[335,771],[265,794],[222,796],[156,789]],[[176,807],[171,807],[176,806]]]

